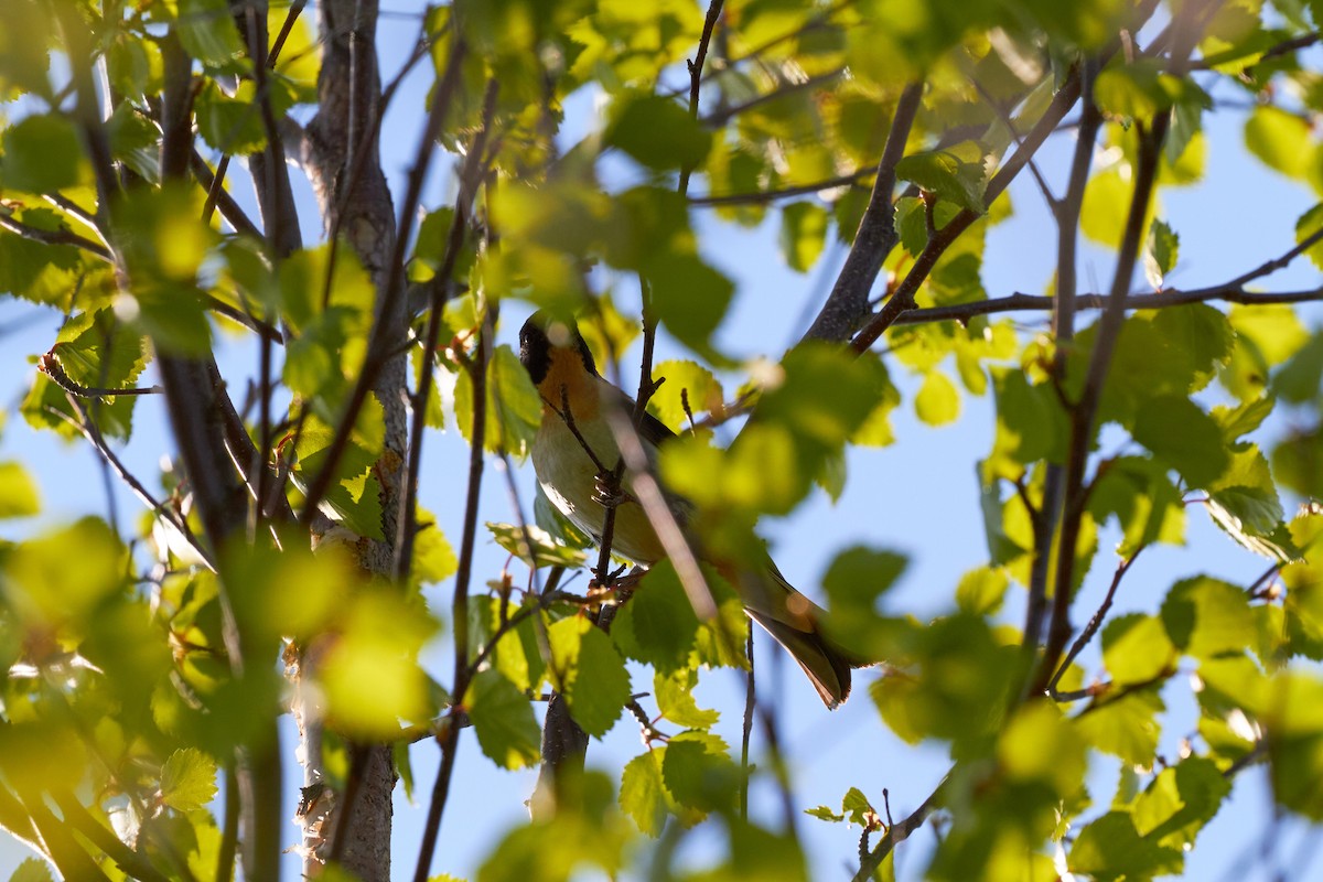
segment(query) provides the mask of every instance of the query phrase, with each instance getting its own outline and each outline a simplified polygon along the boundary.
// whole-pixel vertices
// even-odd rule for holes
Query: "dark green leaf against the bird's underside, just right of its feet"
[[[652,665],[659,676],[689,665],[699,640],[699,616],[671,561],[658,562],[643,577],[617,614],[611,636],[624,655]]]

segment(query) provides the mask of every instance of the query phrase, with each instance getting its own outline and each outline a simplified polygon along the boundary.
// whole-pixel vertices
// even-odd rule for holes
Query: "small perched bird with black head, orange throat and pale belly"
[[[572,524],[601,543],[606,506],[599,476],[603,467],[614,468],[620,458],[607,415],[613,410],[634,414],[635,402],[598,373],[573,319],[534,312],[520,329],[519,344],[520,361],[542,399],[542,419],[531,451],[537,481]],[[638,423],[638,435],[651,464],[656,463],[658,448],[676,438],[647,411]],[[667,554],[630,487],[626,475],[617,500],[611,550],[651,567]],[[693,505],[672,492],[667,492],[667,505],[683,529]],[[851,669],[868,662],[823,635],[819,621],[824,610],[796,591],[770,555],[763,554],[761,566],[737,566],[709,559],[701,540],[689,532],[685,538],[699,559],[732,582],[749,618],[799,662],[823,703],[835,709],[844,702],[849,696]]]

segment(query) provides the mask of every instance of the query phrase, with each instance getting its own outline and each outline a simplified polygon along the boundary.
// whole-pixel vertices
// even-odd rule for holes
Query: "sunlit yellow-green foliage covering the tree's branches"
[[[213,220],[205,188],[163,181],[157,159],[160,34],[191,58],[201,144],[242,156],[267,147],[263,112],[316,100],[311,32],[295,28],[259,90],[221,0],[56,5],[60,15],[16,0],[19,24],[8,33],[25,37],[0,34],[0,91],[24,107],[0,135],[0,291],[66,315],[57,339],[41,344],[64,376],[36,373],[22,415],[64,438],[128,442],[136,397],[85,403],[70,386],[127,389],[155,357],[212,352],[235,317],[243,333],[270,337],[279,328],[271,381],[288,419],[265,452],[280,467],[275,473],[290,472],[286,501],[295,509],[329,473],[321,508],[339,526],[329,534],[337,541],[324,537],[316,554],[292,528],[278,543],[239,537],[206,549],[188,487],[169,472],[167,499],[138,524],[142,543],[86,518],[0,546],[0,664],[9,672],[0,696],[0,824],[66,875],[90,867],[226,878],[221,865],[226,852],[233,858],[234,833],[208,804],[218,770],[233,779],[235,756],[259,748],[261,723],[282,713],[275,661],[286,645],[296,648],[291,659],[318,655],[311,685],[329,726],[353,741],[404,743],[437,731],[437,719],[445,731],[462,709],[483,754],[520,768],[540,760],[534,700],[545,689],[594,738],[631,710],[643,714],[647,747],[619,770],[619,783],[599,772],[570,780],[560,797],[573,809],[509,832],[479,878],[565,878],[583,861],[617,871],[639,836],[706,819],[726,833],[717,877],[806,875],[792,838],[741,813],[749,772],[718,733],[718,710],[695,698],[706,670],[747,664],[749,624],[717,571],[705,573],[716,618],[700,619],[675,567],[662,563],[609,629],[595,627],[602,596],[517,591],[504,574],[455,607],[451,625],[468,647],[448,681],[456,694],[418,664],[442,631],[419,588],[446,582],[458,566],[447,540],[419,517],[402,590],[359,573],[355,554],[365,543],[393,540],[381,505],[382,409],[369,399],[344,424],[345,402],[372,366],[374,276],[341,242],[275,259],[233,218],[229,227]],[[466,149],[475,131],[495,130],[480,159],[500,180],[482,193],[482,235],[462,229],[456,251],[450,230],[467,206],[434,209],[405,268],[411,286],[468,291],[437,317],[439,353],[397,341],[410,349],[414,377],[441,377],[442,401],[415,402],[429,426],[452,418],[471,442],[482,414],[487,450],[525,456],[542,403],[515,352],[491,345],[483,329],[505,299],[573,307],[598,364],[611,365],[636,336],[611,295],[636,279],[662,328],[697,358],[655,369],[667,382],[650,407],[680,432],[660,455],[659,476],[692,501],[705,550],[761,561],[755,521],[794,512],[815,487],[837,497],[847,451],[894,440],[901,389],[931,427],[955,421],[963,397],[991,391],[995,430],[979,472],[988,562],[955,586],[949,610],[919,621],[882,603],[905,567],[892,551],[845,549],[823,578],[832,608],[824,627],[861,657],[888,660],[869,689],[881,723],[913,744],[946,744],[957,763],[938,800],[951,821],[926,869],[933,878],[1050,875],[1057,850],[1070,871],[1099,879],[1177,873],[1228,796],[1228,779],[1258,759],[1285,809],[1323,820],[1312,787],[1323,767],[1315,710],[1323,686],[1316,669],[1301,664],[1323,661],[1315,561],[1323,514],[1293,516],[1286,496],[1323,495],[1323,332],[1306,329],[1287,305],[1191,303],[1123,320],[1091,414],[1103,428],[1085,439],[1093,468],[1076,512],[1080,538],[1066,551],[1072,590],[1098,557],[1099,536],[1119,536],[1126,562],[1154,543],[1179,545],[1195,501],[1274,570],[1248,588],[1209,575],[1180,581],[1156,612],[1106,621],[1097,682],[1085,686],[1085,670],[1068,664],[1053,681],[1060,702],[1025,701],[1037,647],[1023,647],[1020,628],[1000,611],[1012,583],[1035,581],[1037,558],[1049,559],[1049,575],[1058,566],[1062,551],[1050,537],[1043,547],[1039,524],[1049,472],[1068,461],[1078,434],[1072,407],[1089,382],[1102,324],[1066,345],[971,313],[890,328],[885,358],[806,342],[750,368],[717,342],[736,286],[704,258],[693,213],[710,209],[745,226],[770,218],[790,267],[819,266],[830,237],[853,242],[889,120],[906,85],[921,81],[919,112],[894,168],[904,186],[892,223],[898,247],[877,257],[889,284],[925,267],[914,291],[919,308],[986,301],[987,233],[1013,214],[1004,188],[990,190],[992,176],[1023,149],[1027,131],[1052,123],[1053,95],[1077,82],[1084,57],[1110,58],[1091,90],[1106,122],[1103,159],[1082,192],[1080,229],[1090,242],[1122,243],[1155,120],[1170,120],[1159,193],[1203,180],[1203,116],[1222,83],[1254,102],[1245,114],[1248,149],[1323,190],[1323,147],[1310,126],[1323,90],[1316,73],[1282,49],[1323,24],[1318,4],[1220,4],[1199,21],[1199,77],[1174,73],[1160,53],[1113,52],[1117,33],[1138,29],[1135,16],[1152,5],[729,3],[704,83],[708,112],[699,116],[660,86],[701,38],[703,9],[687,0],[504,0],[425,17],[438,77],[459,58],[464,83],[446,108],[443,143]],[[1172,3],[1163,15],[1184,9]],[[273,34],[286,15],[271,9]],[[79,28],[81,42],[73,38]],[[48,58],[50,49],[67,58],[83,42],[105,62],[115,95],[106,157],[86,147],[85,122],[67,110],[60,65]],[[490,119],[487,82],[500,86]],[[603,115],[566,147],[553,136],[564,102],[581,90],[602,97]],[[98,202],[98,161],[132,182],[108,204]],[[676,188],[689,172],[704,194]],[[1162,292],[1180,237],[1156,220],[1160,204],[1148,214],[1144,275]],[[1320,230],[1320,208],[1297,226],[1301,249],[1323,266]],[[438,279],[443,270],[450,278]],[[483,395],[475,365],[486,372]],[[898,370],[904,380],[893,380]],[[726,390],[732,376],[744,383],[736,394]],[[751,402],[754,415],[733,444],[718,447],[708,424],[730,417],[732,399]],[[1285,435],[1252,438],[1269,436],[1261,427],[1283,414]],[[257,427],[250,431],[262,446]],[[0,464],[0,516],[38,508],[22,465]],[[491,524],[490,533],[534,570],[586,561],[586,537],[541,496],[532,524]],[[235,664],[234,633],[257,664]],[[651,681],[655,714],[631,709],[639,676]],[[1189,750],[1171,760],[1159,752],[1160,727],[1170,690],[1187,682],[1197,684],[1197,723]],[[331,738],[333,785],[351,771],[337,743]],[[1085,782],[1103,755],[1125,771],[1115,793],[1099,799]],[[407,750],[396,756],[409,782]],[[234,787],[228,799],[238,799]],[[884,826],[857,789],[840,813],[811,813],[868,832]],[[660,852],[658,860],[669,861],[673,846]]]

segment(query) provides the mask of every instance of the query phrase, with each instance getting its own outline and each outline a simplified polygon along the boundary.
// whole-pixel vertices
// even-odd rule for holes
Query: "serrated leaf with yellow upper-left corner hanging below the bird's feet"
[[[546,629],[548,674],[579,727],[602,738],[630,701],[630,674],[606,632],[586,618],[561,619]]]

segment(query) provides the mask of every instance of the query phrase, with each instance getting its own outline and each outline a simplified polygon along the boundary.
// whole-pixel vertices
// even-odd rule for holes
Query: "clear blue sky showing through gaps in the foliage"
[[[381,44],[385,78],[393,75],[392,63],[407,54],[415,34],[415,21],[406,16],[385,17],[381,22]],[[402,192],[404,177],[413,161],[417,128],[421,123],[418,108],[430,85],[430,70],[419,69],[410,75],[386,119],[382,138],[382,163],[396,193]],[[569,107],[568,130],[581,130],[593,114],[590,95],[576,97]],[[1240,122],[1236,115],[1217,119],[1211,115],[1208,126],[1208,167],[1205,184],[1166,190],[1159,216],[1181,235],[1180,268],[1171,282],[1179,287],[1196,287],[1226,280],[1275,257],[1294,243],[1295,220],[1314,204],[1307,192],[1265,169],[1242,147]],[[1049,180],[1057,182],[1072,149],[1070,135],[1053,139],[1041,155],[1041,167]],[[696,179],[693,189],[701,190],[704,181]],[[299,186],[300,216],[307,242],[320,237],[319,221],[311,193]],[[251,204],[250,194],[237,186],[237,194]],[[445,163],[437,164],[429,177],[423,204],[429,208],[448,202],[454,181]],[[984,284],[992,296],[1023,291],[1040,294],[1050,279],[1054,258],[1054,227],[1043,200],[1025,175],[1011,189],[1015,217],[988,234],[984,262]],[[785,345],[803,331],[800,324],[806,304],[818,296],[816,270],[808,275],[795,274],[785,267],[777,249],[775,221],[751,231],[733,230],[713,222],[703,210],[695,214],[704,253],[737,283],[734,308],[721,328],[721,341],[732,352],[763,353],[771,358],[781,354]],[[1111,255],[1085,246],[1081,262],[1081,290],[1105,288],[1111,278]],[[1267,284],[1274,288],[1318,284],[1319,275],[1308,264],[1298,262],[1289,271],[1273,276]],[[622,305],[627,305],[627,300]],[[503,342],[513,342],[519,324],[527,312],[523,304],[509,304],[500,329]],[[9,300],[0,301],[0,332],[13,321],[25,321],[32,309]],[[1036,327],[1041,316],[1021,315],[1017,320]],[[17,459],[34,471],[41,485],[45,512],[34,522],[0,524],[0,536],[28,534],[41,525],[56,524],[83,512],[105,512],[106,499],[99,465],[90,448],[83,444],[64,446],[49,434],[33,432],[15,407],[22,389],[30,383],[33,366],[28,357],[49,348],[58,328],[60,316],[46,312],[34,324],[26,324],[21,333],[0,337],[0,402],[9,411],[9,419],[0,435],[0,460]],[[1314,309],[1306,324],[1323,324],[1323,313]],[[658,360],[685,357],[685,353],[663,339]],[[622,362],[624,376],[636,370],[638,353],[632,352]],[[243,346],[229,346],[222,357],[222,372],[239,381],[255,368],[254,353]],[[987,399],[964,395],[963,411],[958,422],[943,428],[930,428],[913,417],[909,405],[916,383],[902,368],[893,366],[893,378],[906,393],[906,403],[894,418],[897,443],[882,450],[856,450],[848,460],[849,481],[841,499],[832,504],[818,493],[792,517],[769,520],[762,524],[763,534],[773,542],[774,555],[786,577],[807,594],[820,596],[819,579],[835,554],[855,543],[865,543],[900,550],[910,557],[910,566],[897,587],[886,596],[893,611],[912,612],[919,618],[938,615],[954,604],[954,591],[959,577],[986,561],[983,524],[978,509],[978,483],[975,461],[983,456],[992,440],[991,407]],[[163,452],[172,450],[165,431],[161,405],[156,399],[139,403],[135,415],[135,434],[124,451],[124,459],[135,473],[151,479],[159,468]],[[462,512],[454,500],[462,496],[467,477],[463,463],[467,447],[452,431],[431,432],[426,439],[422,472],[421,502],[441,516],[441,526],[452,542],[459,538]],[[533,476],[528,467],[517,473],[525,505],[532,500]],[[115,487],[115,506],[122,522],[136,517],[139,508],[130,493]],[[488,472],[483,495],[483,520],[512,520],[508,499],[500,476]],[[1107,551],[1115,537],[1103,534],[1098,558],[1077,604],[1077,624],[1091,611],[1110,582],[1114,557]],[[505,562],[505,554],[486,536],[479,536],[476,578],[495,577]],[[1131,570],[1121,591],[1114,614],[1131,610],[1152,611],[1166,590],[1179,578],[1197,573],[1211,573],[1230,582],[1248,583],[1265,569],[1265,562],[1236,546],[1211,525],[1199,508],[1188,517],[1187,547],[1160,547],[1150,550]],[[447,618],[450,584],[429,592],[429,599],[442,618]],[[1012,588],[1005,616],[1019,621],[1023,611],[1023,591]],[[881,803],[882,788],[888,788],[893,813],[900,817],[917,805],[947,768],[942,746],[910,747],[889,734],[881,725],[864,686],[876,674],[859,676],[855,698],[843,709],[828,713],[794,665],[783,653],[770,647],[765,636],[759,640],[759,678],[770,689],[762,692],[765,701],[774,705],[781,726],[786,754],[791,759],[794,799],[799,808],[819,804],[837,807],[849,787],[861,788],[865,795]],[[451,656],[445,644],[429,649],[425,661],[445,682],[450,680]],[[1085,668],[1097,670],[1097,653],[1082,657]],[[650,688],[650,678],[634,669],[635,690]],[[1193,731],[1193,706],[1183,682],[1167,689],[1171,707],[1163,730],[1162,752],[1174,756],[1181,737]],[[700,705],[717,707],[722,713],[720,733],[732,744],[740,741],[740,713],[742,709],[742,681],[733,672],[714,672],[704,678],[699,690]],[[292,726],[286,726],[286,755],[292,756]],[[642,751],[635,725],[623,719],[602,743],[589,748],[591,766],[618,775],[623,764]],[[755,739],[755,755],[759,744]],[[435,774],[437,750],[433,744],[413,750],[418,789],[426,793]],[[292,760],[286,764],[291,775],[288,792],[296,792],[292,775],[298,771]],[[1099,760],[1090,776],[1090,791],[1095,805],[1106,805],[1115,787],[1118,764]],[[475,739],[464,734],[459,764],[452,785],[451,803],[441,830],[441,841],[434,873],[452,873],[468,877],[487,856],[497,838],[512,825],[527,817],[524,800],[533,787],[533,774],[505,772],[486,760]],[[755,787],[751,796],[755,815],[769,822],[779,822],[779,800],[767,785]],[[1302,825],[1287,822],[1273,854],[1259,858],[1265,829],[1271,821],[1270,797],[1262,770],[1250,770],[1236,783],[1234,796],[1221,815],[1205,829],[1196,852],[1188,861],[1187,878],[1236,878],[1237,882],[1256,882],[1271,878],[1275,861],[1291,867],[1291,878],[1307,878],[1311,869],[1323,873],[1323,862],[1312,867],[1299,866],[1295,849],[1316,833]],[[394,862],[396,877],[411,871],[426,803],[409,805],[397,792]],[[287,811],[292,817],[292,801]],[[845,867],[855,861],[857,829],[828,825],[808,816],[795,819],[815,878],[841,878]],[[288,842],[296,841],[294,824],[288,828]],[[931,833],[921,830],[898,852],[901,878],[919,878],[923,854],[931,844]],[[681,852],[684,860],[703,863],[710,854],[710,840],[705,834],[695,837]],[[1238,862],[1249,856],[1252,863]],[[1286,857],[1282,857],[1286,856]],[[0,874],[5,874],[21,860],[22,852],[7,838],[0,841]],[[298,862],[291,857],[286,878],[298,878]]]

